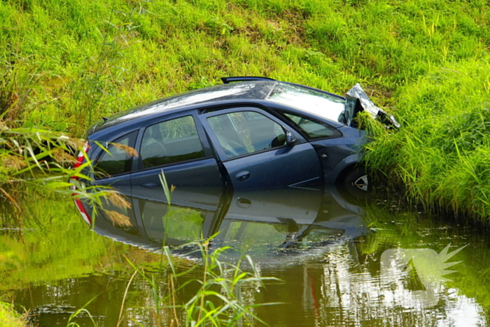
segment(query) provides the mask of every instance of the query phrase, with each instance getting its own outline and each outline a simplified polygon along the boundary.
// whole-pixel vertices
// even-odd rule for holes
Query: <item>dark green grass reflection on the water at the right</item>
[[[464,227],[465,221],[444,221],[444,217],[419,214],[409,208],[393,211],[389,202],[385,205],[363,206],[365,220],[373,230],[364,242],[356,246],[370,264],[377,263],[381,253],[387,249],[433,249],[440,253],[451,243],[451,249],[470,244],[449,262],[461,261],[454,266],[456,272],[444,277],[447,288],[454,287],[458,293],[475,298],[486,316],[490,316],[490,249],[486,244],[486,232],[475,232],[476,226]],[[485,228],[486,229],[486,228]],[[375,270],[379,269],[379,263]],[[414,287],[419,287],[412,285]]]

